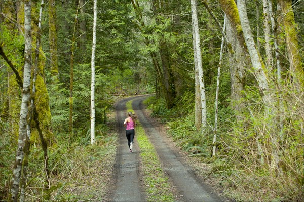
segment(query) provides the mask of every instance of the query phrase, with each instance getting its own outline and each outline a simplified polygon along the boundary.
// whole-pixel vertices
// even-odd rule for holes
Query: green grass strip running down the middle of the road
[[[131,105],[132,101],[127,102],[128,111],[134,110]],[[172,186],[165,176],[161,162],[156,150],[146,136],[142,126],[136,122],[135,136],[140,148],[141,166],[140,170],[144,178],[147,201],[174,201]]]

